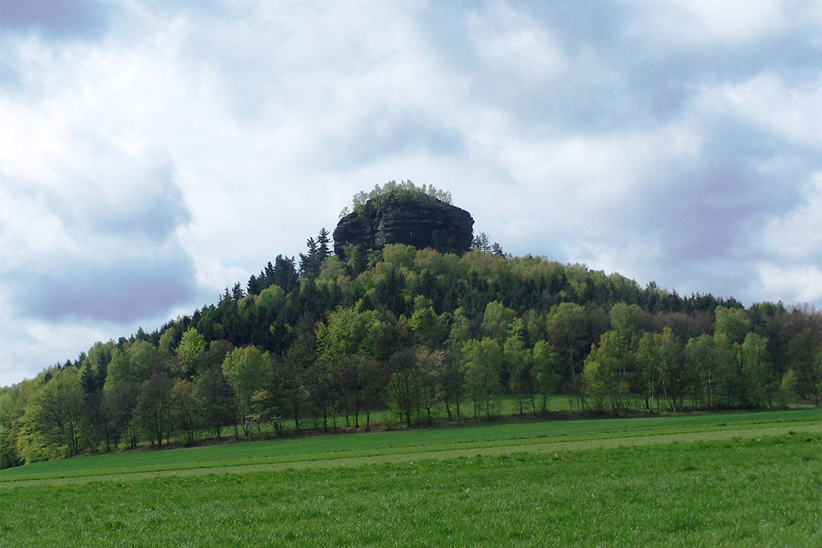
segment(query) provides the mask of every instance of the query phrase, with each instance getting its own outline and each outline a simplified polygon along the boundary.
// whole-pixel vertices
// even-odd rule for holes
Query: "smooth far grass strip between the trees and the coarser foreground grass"
[[[495,453],[517,450],[551,450],[561,444],[623,440],[627,443],[653,443],[658,436],[695,435],[710,437],[716,432],[742,433],[783,431],[801,427],[819,429],[818,409],[729,412],[722,414],[644,417],[583,421],[519,421],[410,431],[382,431],[368,434],[313,435],[285,440],[207,445],[190,449],[136,451],[32,463],[0,472],[0,489],[10,482],[48,478],[95,477],[192,471],[210,468],[229,470],[251,466],[309,466],[348,463],[352,459],[394,460],[438,458],[465,451]],[[689,438],[690,436],[690,438]]]

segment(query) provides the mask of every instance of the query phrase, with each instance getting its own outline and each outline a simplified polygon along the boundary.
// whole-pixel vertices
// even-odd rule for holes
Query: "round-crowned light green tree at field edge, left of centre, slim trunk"
[[[271,371],[271,357],[256,347],[237,348],[226,355],[223,375],[233,389],[242,433],[251,433],[252,396],[266,388]]]

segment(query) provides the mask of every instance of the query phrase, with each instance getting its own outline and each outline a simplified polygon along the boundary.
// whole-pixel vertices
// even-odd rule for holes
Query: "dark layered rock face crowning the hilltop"
[[[380,249],[404,243],[418,249],[432,247],[442,253],[468,251],[473,218],[468,211],[435,198],[386,196],[378,204],[368,200],[359,212],[339,219],[334,230],[334,252],[345,258],[345,247]]]

